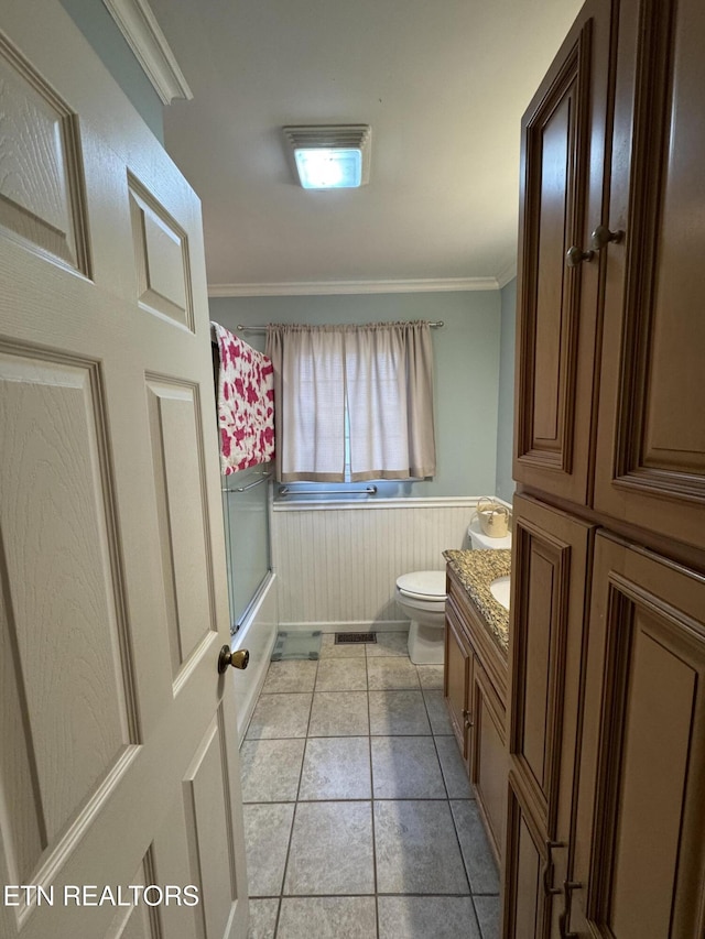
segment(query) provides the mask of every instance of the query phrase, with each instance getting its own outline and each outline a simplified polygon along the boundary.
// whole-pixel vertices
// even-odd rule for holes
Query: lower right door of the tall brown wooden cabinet
[[[705,580],[596,538],[566,928],[705,935]]]

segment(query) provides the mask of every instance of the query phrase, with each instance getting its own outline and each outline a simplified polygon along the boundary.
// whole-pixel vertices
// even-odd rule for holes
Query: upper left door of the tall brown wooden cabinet
[[[610,73],[609,0],[588,0],[522,121],[513,476],[588,501]],[[566,252],[586,259],[575,266]]]

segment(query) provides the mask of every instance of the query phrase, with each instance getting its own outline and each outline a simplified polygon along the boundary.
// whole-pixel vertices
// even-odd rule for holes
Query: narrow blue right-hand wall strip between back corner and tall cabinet
[[[501,291],[501,340],[499,352],[499,407],[497,423],[496,493],[511,502],[514,482],[511,478],[514,427],[514,337],[517,334],[517,279]]]

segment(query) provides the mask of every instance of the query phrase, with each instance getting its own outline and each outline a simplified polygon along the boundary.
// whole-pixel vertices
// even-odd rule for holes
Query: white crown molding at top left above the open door
[[[194,96],[147,0],[102,0],[164,105]]]

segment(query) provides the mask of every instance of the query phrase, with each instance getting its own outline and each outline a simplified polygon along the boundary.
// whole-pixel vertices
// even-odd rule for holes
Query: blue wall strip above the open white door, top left
[[[101,0],[61,0],[154,137],[164,143],[162,101]]]

